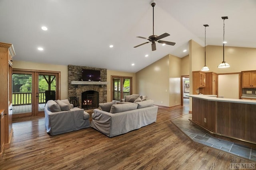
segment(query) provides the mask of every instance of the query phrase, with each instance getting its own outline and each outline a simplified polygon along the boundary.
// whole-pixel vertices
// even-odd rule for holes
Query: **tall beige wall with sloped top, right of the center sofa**
[[[160,106],[180,104],[181,59],[166,55],[136,72],[137,93],[147,95]]]

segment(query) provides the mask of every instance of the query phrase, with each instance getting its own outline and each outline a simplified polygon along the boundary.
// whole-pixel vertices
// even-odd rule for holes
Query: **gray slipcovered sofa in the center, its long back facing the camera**
[[[100,106],[103,110],[94,109],[90,126],[108,137],[139,129],[156,121],[158,106],[154,106],[153,102],[106,103],[109,106]]]

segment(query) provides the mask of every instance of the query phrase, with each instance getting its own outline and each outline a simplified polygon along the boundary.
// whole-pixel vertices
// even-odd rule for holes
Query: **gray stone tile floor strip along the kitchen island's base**
[[[188,119],[192,119],[192,114],[186,114],[172,120],[177,127],[182,130],[183,133],[188,135],[193,141],[213,147],[216,149],[223,150],[225,152],[241,156],[250,160],[256,161],[256,149],[244,147],[236,143],[229,141],[224,141],[222,139],[217,139],[212,137],[204,129],[190,123]]]

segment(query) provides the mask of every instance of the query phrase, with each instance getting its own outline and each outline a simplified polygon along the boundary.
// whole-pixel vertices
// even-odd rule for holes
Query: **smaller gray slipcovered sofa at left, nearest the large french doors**
[[[73,107],[68,100],[49,100],[44,107],[46,132],[58,135],[90,127],[89,113]]]

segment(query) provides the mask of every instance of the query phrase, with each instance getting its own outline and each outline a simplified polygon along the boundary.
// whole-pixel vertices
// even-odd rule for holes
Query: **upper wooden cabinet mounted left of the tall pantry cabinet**
[[[202,71],[193,71],[193,94],[201,93],[200,88],[205,88],[206,74]]]

